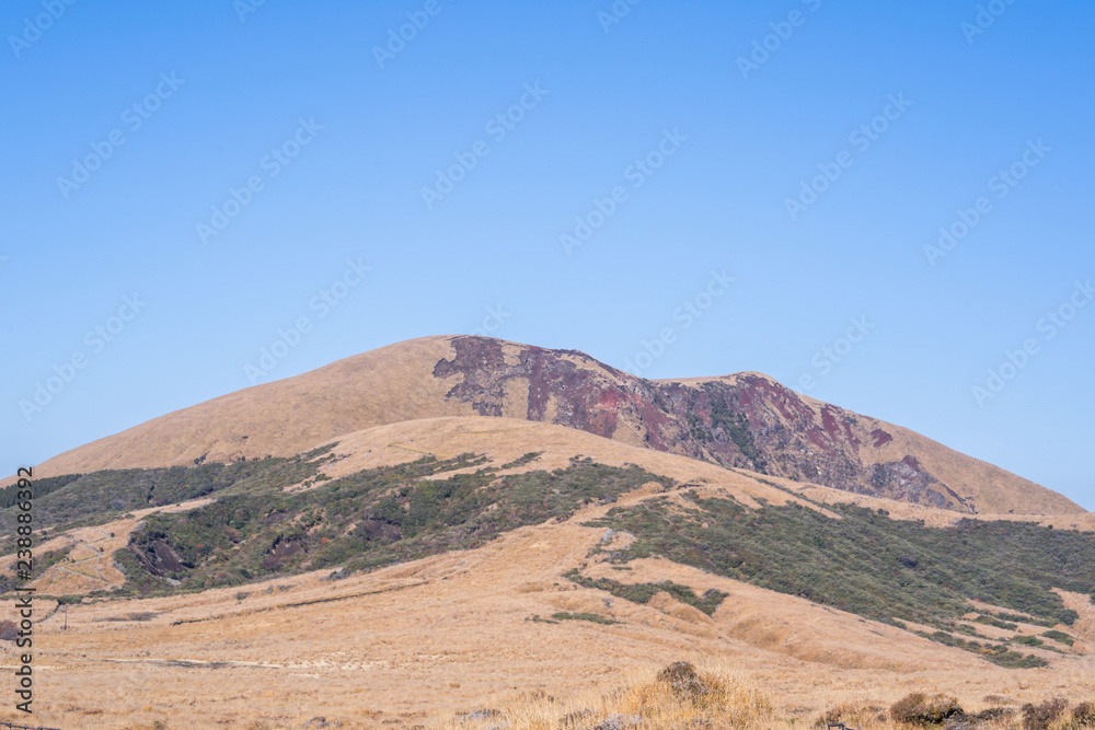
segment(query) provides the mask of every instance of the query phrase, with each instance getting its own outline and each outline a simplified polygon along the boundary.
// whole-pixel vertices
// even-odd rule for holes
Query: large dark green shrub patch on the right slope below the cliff
[[[840,517],[832,519],[799,505],[749,510],[695,493],[687,498],[688,509],[648,500],[590,524],[635,535],[614,563],[660,555],[884,623],[913,621],[937,629],[930,638],[1006,667],[1044,660],[953,636],[970,610],[967,599],[1034,617],[998,614],[982,623],[1053,626],[1077,616],[1051,588],[1095,595],[1091,533],[976,520],[935,529],[851,505],[828,506]]]

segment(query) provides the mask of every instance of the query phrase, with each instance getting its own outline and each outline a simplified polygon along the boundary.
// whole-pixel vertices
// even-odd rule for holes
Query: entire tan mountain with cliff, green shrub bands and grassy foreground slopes
[[[771,727],[1095,686],[1095,514],[759,373],[416,339],[38,465],[33,561],[19,493],[0,628],[32,588],[50,726],[498,727],[520,691],[620,727],[586,688],[681,659],[787,700]]]

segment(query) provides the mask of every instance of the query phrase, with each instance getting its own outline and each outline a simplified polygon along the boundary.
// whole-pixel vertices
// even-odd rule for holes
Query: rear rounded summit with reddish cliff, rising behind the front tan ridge
[[[1080,514],[1065,497],[760,373],[645,380],[575,350],[438,336],[185,408],[56,456],[42,476],[290,457],[424,418],[542,421],[797,482],[966,513]]]

